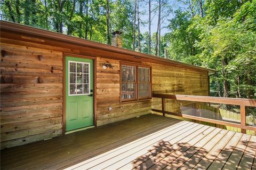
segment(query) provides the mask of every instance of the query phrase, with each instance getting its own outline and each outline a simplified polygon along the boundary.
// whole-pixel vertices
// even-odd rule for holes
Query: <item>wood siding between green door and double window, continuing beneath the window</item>
[[[103,69],[104,63],[115,66]],[[120,61],[97,58],[97,125],[151,113],[151,100],[120,103]],[[108,111],[108,107],[113,108]]]

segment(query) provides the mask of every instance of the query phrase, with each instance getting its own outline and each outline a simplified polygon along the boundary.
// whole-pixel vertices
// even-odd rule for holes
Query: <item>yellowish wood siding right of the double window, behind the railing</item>
[[[209,94],[208,72],[155,63],[151,65],[153,92],[204,96]],[[165,101],[167,111],[180,111],[179,102],[172,99],[165,99]],[[182,104],[191,104],[191,102],[183,101]],[[162,109],[162,100],[153,98],[153,108]]]

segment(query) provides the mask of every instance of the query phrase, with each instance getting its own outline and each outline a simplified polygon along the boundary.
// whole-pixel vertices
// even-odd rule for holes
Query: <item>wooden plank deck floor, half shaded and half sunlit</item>
[[[4,149],[1,169],[256,169],[256,136],[145,115]]]

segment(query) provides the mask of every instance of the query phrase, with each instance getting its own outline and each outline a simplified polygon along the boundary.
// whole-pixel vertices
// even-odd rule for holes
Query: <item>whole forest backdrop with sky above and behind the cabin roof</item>
[[[218,70],[211,95],[256,99],[256,0],[1,0],[1,19]]]

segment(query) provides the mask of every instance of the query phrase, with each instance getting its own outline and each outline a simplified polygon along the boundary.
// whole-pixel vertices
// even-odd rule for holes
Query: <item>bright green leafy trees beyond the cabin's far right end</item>
[[[205,17],[175,11],[169,57],[218,70],[211,90],[219,96],[256,98],[256,1],[206,1]],[[224,88],[226,84],[226,89]]]

